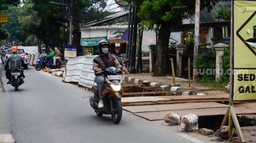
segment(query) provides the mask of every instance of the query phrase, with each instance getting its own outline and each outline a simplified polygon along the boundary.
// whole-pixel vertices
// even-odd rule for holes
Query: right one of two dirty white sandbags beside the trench
[[[193,132],[196,130],[198,130],[198,116],[195,114],[182,116],[180,131]]]

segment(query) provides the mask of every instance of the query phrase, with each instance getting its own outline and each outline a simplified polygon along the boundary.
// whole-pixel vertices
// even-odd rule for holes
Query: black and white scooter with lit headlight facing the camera
[[[95,63],[100,63],[99,60],[93,59]],[[128,63],[129,59],[126,59],[124,64]],[[103,76],[105,78],[105,89],[103,90],[103,108],[98,108],[99,104],[99,93],[98,86],[94,79],[94,96],[90,97],[91,107],[95,110],[97,116],[102,116],[103,114],[111,114],[114,123],[118,124],[122,118],[122,86],[123,80],[121,75],[121,68],[109,67],[102,68]],[[100,73],[98,72],[98,73]]]

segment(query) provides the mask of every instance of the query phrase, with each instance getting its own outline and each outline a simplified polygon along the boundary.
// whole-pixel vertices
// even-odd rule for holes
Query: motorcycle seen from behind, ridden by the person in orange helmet
[[[21,77],[21,69],[15,66],[11,69],[11,86],[15,87],[15,91],[18,91],[18,87],[22,85],[23,77]]]

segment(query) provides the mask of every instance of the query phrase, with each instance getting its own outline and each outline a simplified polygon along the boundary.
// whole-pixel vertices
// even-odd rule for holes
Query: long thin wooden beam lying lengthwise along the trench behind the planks
[[[224,90],[224,89],[227,89],[227,88],[207,88],[207,89],[189,89],[189,90],[178,90],[178,91],[155,91],[155,92],[134,92],[134,93],[123,93],[122,95],[181,93],[181,92],[187,92],[187,91],[212,91],[212,90]]]

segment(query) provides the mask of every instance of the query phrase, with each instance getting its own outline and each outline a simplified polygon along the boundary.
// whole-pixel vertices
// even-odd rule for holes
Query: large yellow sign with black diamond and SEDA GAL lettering
[[[233,100],[256,100],[256,0],[235,0],[233,22]]]

